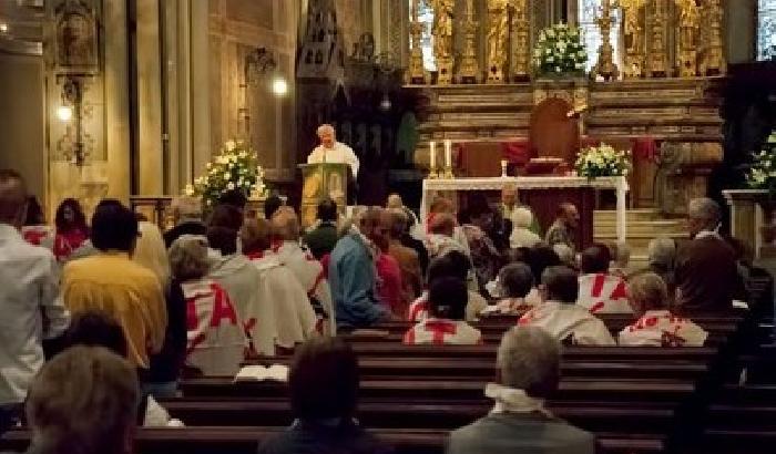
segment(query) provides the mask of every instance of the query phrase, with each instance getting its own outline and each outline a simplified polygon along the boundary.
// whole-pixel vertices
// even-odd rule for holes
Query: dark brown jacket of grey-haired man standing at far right
[[[745,298],[733,248],[716,236],[680,245],[674,279],[681,312],[726,312],[734,298]]]

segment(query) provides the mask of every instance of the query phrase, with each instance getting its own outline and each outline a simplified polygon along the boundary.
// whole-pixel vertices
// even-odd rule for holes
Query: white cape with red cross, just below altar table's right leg
[[[627,302],[627,282],[619,276],[604,272],[580,276],[576,303],[590,313],[633,313]]]

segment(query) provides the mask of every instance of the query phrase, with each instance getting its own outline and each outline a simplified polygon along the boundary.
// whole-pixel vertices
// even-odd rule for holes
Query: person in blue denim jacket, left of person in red
[[[377,296],[375,255],[388,237],[381,208],[369,208],[359,218],[358,231],[345,235],[331,251],[329,283],[340,329],[368,328],[390,318]]]

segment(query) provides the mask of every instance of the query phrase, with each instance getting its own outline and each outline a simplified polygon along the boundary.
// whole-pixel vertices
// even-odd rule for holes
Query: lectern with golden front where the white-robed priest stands
[[[330,198],[341,214],[348,199],[350,166],[347,164],[300,164],[302,169],[302,227],[315,224],[320,200]]]

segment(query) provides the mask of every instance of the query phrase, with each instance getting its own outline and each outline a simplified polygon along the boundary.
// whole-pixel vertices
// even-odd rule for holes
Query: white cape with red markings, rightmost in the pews
[[[703,347],[708,333],[688,319],[667,310],[650,310],[620,331],[621,345]]]

